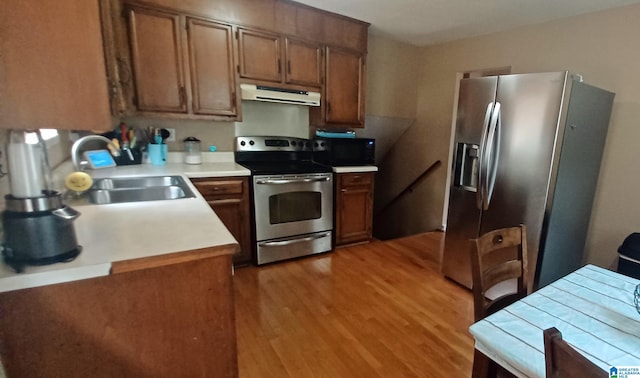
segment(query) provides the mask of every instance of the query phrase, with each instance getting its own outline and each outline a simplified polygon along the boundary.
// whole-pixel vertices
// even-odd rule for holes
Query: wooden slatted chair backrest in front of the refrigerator
[[[529,289],[525,225],[493,230],[471,240],[471,270],[476,321],[524,298]],[[487,298],[487,291],[496,284],[514,279],[516,292]]]

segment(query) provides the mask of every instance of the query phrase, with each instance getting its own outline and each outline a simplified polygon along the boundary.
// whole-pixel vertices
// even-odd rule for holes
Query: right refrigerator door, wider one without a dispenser
[[[554,72],[500,76],[498,80],[500,158],[480,234],[525,224],[530,280],[549,195],[566,77],[565,72]]]

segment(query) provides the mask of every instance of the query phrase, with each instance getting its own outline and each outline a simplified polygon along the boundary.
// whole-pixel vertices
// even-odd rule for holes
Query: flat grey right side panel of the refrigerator
[[[544,253],[538,256],[537,287],[583,264],[613,98],[613,93],[600,88],[580,82],[572,85],[553,204],[540,244]]]

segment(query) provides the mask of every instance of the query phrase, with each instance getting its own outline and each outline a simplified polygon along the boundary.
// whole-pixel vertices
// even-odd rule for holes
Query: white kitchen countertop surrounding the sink
[[[233,153],[203,153],[203,163],[198,165],[181,161],[181,153],[169,153],[165,166],[139,164],[88,173],[94,178],[250,175],[248,169],[233,161]],[[81,213],[74,223],[82,246],[80,255],[67,263],[29,266],[24,273],[0,264],[0,292],[106,276],[111,264],[118,261],[237,244],[196,188],[186,181],[195,198],[108,205],[67,201]]]

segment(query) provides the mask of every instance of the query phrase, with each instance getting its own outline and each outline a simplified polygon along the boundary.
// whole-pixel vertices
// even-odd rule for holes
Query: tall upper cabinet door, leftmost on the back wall
[[[128,14],[138,110],[186,113],[179,16],[142,8]]]

